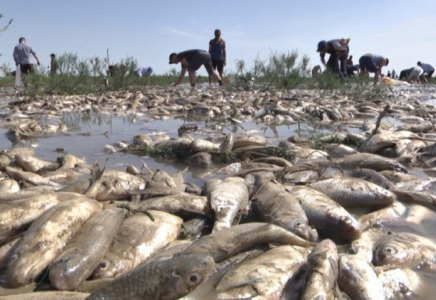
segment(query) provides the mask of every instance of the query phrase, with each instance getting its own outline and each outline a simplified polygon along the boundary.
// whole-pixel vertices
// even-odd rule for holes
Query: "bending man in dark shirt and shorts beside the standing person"
[[[189,82],[191,83],[191,87],[195,87],[197,83],[196,71],[200,69],[203,65],[206,68],[207,73],[209,74],[209,85],[211,85],[211,77],[214,77],[219,85],[223,85],[221,81],[221,77],[219,74],[215,73],[212,67],[212,59],[210,54],[204,50],[187,50],[180,53],[171,53],[170,54],[170,64],[182,64],[182,71],[180,72],[180,76],[177,81],[174,83],[174,86],[179,85],[183,78],[185,77],[186,70],[188,70],[189,74]]]

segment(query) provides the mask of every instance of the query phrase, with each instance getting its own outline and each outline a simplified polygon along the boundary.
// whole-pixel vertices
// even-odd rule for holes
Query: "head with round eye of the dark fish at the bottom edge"
[[[171,270],[175,288],[188,293],[207,280],[215,269],[211,256],[187,254],[178,256]]]

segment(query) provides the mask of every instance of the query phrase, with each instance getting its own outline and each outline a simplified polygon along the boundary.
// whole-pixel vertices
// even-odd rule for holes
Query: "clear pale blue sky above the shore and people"
[[[225,72],[235,61],[247,67],[256,57],[297,50],[320,64],[320,40],[351,38],[354,63],[365,53],[390,60],[387,70],[436,66],[435,0],[0,0],[0,64],[14,66],[12,51],[26,37],[43,65],[51,53],[77,53],[86,59],[106,57],[111,63],[134,57],[156,74],[171,68],[171,52],[208,49],[219,28],[227,45]],[[206,74],[204,68],[199,73]]]

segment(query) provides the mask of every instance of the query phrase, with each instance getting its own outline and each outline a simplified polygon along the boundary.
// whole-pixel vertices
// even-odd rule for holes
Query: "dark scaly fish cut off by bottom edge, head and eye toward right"
[[[86,299],[178,299],[207,280],[213,270],[213,259],[207,255],[151,261],[104,285]]]

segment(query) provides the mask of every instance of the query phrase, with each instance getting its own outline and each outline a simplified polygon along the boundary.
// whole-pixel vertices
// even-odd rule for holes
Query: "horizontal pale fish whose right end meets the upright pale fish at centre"
[[[212,215],[213,211],[205,196],[186,193],[166,197],[151,198],[138,203],[130,203],[129,207],[136,210],[159,210],[170,214],[189,218],[192,216]]]

